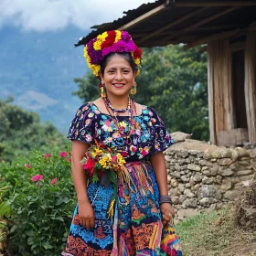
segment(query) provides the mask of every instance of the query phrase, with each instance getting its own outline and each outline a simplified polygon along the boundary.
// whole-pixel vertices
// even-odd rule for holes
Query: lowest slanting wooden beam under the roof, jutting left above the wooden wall
[[[233,37],[234,35],[238,34],[239,32],[240,32],[240,29],[237,28],[237,29],[234,29],[234,30],[225,31],[225,32],[214,34],[214,35],[210,35],[208,37],[202,37],[202,38],[199,38],[199,39],[195,40],[193,43],[187,44],[184,48],[185,49],[194,48],[194,47],[197,47],[197,46],[202,45],[202,44],[207,44],[210,41],[218,40],[218,39],[225,38],[225,37]]]

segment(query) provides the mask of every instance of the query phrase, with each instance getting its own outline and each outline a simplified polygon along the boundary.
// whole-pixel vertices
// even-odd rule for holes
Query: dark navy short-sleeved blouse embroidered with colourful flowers
[[[128,117],[119,118],[120,127],[125,133],[128,130]],[[165,124],[152,108],[144,106],[142,114],[134,116],[133,120],[131,141],[125,141],[115,127],[112,117],[101,113],[97,106],[90,102],[82,105],[76,113],[68,138],[89,144],[96,139],[98,143],[103,142],[106,146],[116,147],[129,161],[143,159],[165,150],[174,143],[165,129]]]

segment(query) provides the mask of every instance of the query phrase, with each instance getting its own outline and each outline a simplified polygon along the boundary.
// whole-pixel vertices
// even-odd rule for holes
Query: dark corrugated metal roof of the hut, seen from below
[[[165,8],[146,16],[156,7]],[[168,44],[191,44],[223,32],[240,31],[256,21],[256,1],[226,1],[226,0],[158,0],[139,6],[137,9],[124,12],[122,18],[110,23],[94,26],[96,30],[83,37],[77,44],[85,45],[91,38],[104,31],[125,28],[139,47],[165,46]],[[139,22],[132,21],[142,18]],[[239,29],[238,29],[239,28]],[[237,37],[237,35],[236,35]]]

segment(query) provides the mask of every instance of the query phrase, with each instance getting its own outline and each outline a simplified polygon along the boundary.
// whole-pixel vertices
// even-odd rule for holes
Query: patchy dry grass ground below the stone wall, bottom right
[[[231,207],[179,222],[176,232],[184,256],[256,256],[256,230],[239,229]]]

